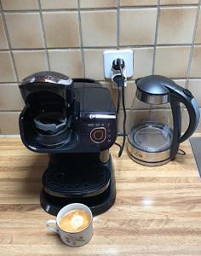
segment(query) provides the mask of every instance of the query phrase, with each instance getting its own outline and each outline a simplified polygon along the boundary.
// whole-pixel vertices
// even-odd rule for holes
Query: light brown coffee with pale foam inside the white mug
[[[60,218],[60,229],[66,232],[80,232],[85,230],[90,223],[89,213],[83,210],[72,210],[66,212]]]

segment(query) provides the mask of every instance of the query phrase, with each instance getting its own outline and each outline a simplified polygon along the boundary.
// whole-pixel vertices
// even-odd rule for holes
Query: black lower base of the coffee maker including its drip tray
[[[112,207],[116,197],[111,156],[101,163],[93,154],[80,154],[77,161],[73,154],[52,154],[42,182],[41,206],[53,215],[75,202],[87,205],[97,215]]]

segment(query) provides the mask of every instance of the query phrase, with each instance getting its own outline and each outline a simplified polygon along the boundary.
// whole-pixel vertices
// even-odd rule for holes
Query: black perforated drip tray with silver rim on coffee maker
[[[109,181],[108,169],[99,164],[48,168],[42,180],[47,193],[66,197],[99,195],[108,188]]]

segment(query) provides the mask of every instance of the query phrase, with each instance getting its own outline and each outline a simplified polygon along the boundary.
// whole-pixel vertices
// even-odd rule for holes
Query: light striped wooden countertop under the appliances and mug
[[[117,200],[95,217],[95,235],[66,247],[45,229],[53,218],[39,205],[47,156],[20,137],[0,137],[0,255],[201,255],[201,179],[189,143],[186,157],[159,167],[135,164],[112,147]]]

